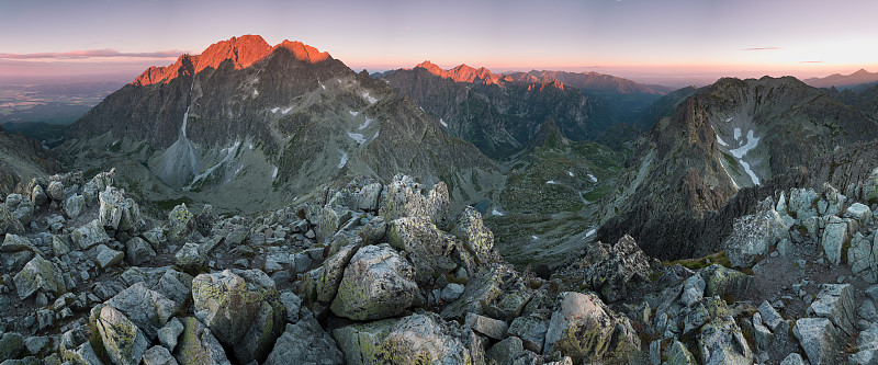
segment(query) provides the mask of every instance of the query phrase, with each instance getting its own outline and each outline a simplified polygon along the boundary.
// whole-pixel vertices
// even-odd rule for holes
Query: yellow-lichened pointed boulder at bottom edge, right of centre
[[[594,293],[566,292],[552,313],[543,354],[560,351],[574,363],[624,363],[640,351],[628,318],[614,313]]]

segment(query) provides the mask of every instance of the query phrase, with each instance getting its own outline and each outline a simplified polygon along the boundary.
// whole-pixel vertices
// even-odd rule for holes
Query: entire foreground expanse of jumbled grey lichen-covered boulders
[[[766,199],[720,254],[661,263],[623,237],[550,277],[505,263],[443,183],[405,175],[250,217],[150,219],[114,171],[27,191],[0,204],[0,364],[878,358],[878,170],[851,197]]]

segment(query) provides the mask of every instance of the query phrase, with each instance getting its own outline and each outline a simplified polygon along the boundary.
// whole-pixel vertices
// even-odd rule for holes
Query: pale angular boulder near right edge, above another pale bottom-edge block
[[[808,307],[808,315],[828,318],[848,335],[854,334],[854,287],[851,284],[823,284],[814,301]]]

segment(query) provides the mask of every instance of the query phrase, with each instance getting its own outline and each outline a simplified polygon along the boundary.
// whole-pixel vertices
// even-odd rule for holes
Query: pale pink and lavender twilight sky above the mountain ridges
[[[823,77],[878,71],[876,13],[875,0],[0,0],[0,82],[133,79],[244,34],[370,72],[429,59],[664,83]]]

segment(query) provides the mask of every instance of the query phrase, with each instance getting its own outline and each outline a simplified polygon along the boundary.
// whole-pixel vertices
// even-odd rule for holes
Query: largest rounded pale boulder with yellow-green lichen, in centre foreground
[[[405,313],[418,295],[415,270],[389,244],[357,251],[338,287],[331,310],[354,320]]]

